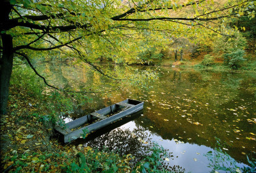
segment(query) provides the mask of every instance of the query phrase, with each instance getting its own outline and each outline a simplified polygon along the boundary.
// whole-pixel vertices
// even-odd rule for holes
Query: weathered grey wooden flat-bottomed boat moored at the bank
[[[95,130],[121,119],[127,115],[138,112],[143,109],[144,102],[138,100],[127,99],[119,103],[115,103],[104,109],[97,110],[83,117],[79,117],[74,121],[65,124],[65,128],[55,126],[54,130],[60,133],[61,140],[65,143],[71,142],[81,137],[84,132],[91,133]],[[94,123],[93,123],[94,122]],[[88,124],[90,123],[90,124]],[[84,126],[84,124],[88,124]]]

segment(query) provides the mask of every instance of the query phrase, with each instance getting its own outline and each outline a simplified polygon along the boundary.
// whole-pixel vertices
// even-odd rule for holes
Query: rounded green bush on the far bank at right
[[[244,50],[241,49],[230,54],[224,54],[224,64],[235,70],[241,68],[241,63],[244,60]]]

